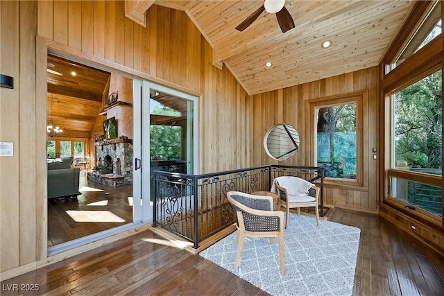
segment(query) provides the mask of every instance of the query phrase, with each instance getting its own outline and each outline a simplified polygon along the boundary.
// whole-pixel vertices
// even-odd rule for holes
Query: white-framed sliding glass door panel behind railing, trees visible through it
[[[153,171],[198,173],[197,106],[196,96],[142,83],[142,167],[149,168],[142,171],[143,204],[152,205]],[[143,220],[153,220],[151,209],[143,212]]]

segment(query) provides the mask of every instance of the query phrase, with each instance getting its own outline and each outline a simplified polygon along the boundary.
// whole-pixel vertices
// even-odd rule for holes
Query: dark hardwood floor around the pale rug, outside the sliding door
[[[354,295],[444,294],[444,257],[416,238],[375,215],[333,209],[329,220],[361,228]],[[214,263],[152,238],[167,243],[147,230],[3,281],[1,295],[266,295]],[[8,290],[14,284],[39,290]]]

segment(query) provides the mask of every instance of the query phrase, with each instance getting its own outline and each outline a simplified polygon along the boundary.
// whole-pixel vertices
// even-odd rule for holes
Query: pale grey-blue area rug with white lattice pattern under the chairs
[[[352,295],[361,229],[290,213],[284,230],[284,275],[279,243],[246,238],[239,269],[234,270],[237,232],[200,256],[271,295]]]

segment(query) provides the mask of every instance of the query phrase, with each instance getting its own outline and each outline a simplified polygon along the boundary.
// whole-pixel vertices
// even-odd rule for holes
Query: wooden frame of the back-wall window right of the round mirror
[[[335,105],[345,105],[350,103],[356,103],[356,179],[342,179],[336,177],[326,177],[325,182],[331,182],[335,184],[343,184],[349,186],[364,186],[364,129],[366,125],[367,116],[364,114],[364,103],[367,102],[368,92],[367,91],[358,91],[358,92],[350,92],[347,94],[339,94],[335,96],[325,96],[322,98],[316,98],[308,100],[307,103],[309,105],[309,149],[311,155],[309,156],[309,161],[312,165],[316,166],[317,164],[317,121],[316,121],[316,109],[321,107],[330,107]]]

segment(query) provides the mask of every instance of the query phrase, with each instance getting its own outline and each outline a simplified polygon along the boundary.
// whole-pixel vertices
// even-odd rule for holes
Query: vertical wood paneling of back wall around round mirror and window
[[[363,98],[363,111],[358,111],[359,116],[362,116],[364,119],[364,124],[359,125],[358,129],[361,131],[359,134],[364,134],[364,131],[368,130],[370,126],[370,121],[375,121],[375,116],[377,114],[377,67],[372,67],[370,69],[364,69],[360,71],[355,71],[353,73],[345,73],[340,76],[335,76],[332,78],[326,78],[323,80],[318,80],[314,82],[305,83],[303,85],[298,85],[296,87],[289,87],[284,89],[283,97],[284,97],[284,107],[282,118],[284,121],[291,124],[291,112],[294,110],[297,112],[297,121],[296,124],[293,124],[300,132],[300,138],[302,147],[300,152],[296,157],[289,159],[289,161],[285,162],[285,164],[293,164],[293,165],[314,165],[312,163],[312,159],[314,157],[314,153],[316,153],[316,148],[314,148],[314,138],[312,137],[313,130],[310,130],[311,127],[309,122],[313,119],[309,118],[309,104],[306,104],[307,100],[315,100],[316,98],[323,98],[327,94],[331,94],[332,96],[336,96],[342,94],[343,92],[357,92],[364,91]],[[273,100],[271,98],[273,94],[275,94],[276,98]],[[276,119],[279,118],[279,115],[268,114],[267,109],[276,108],[278,102],[278,94],[279,92],[267,92],[263,94],[257,94],[254,96],[255,106],[260,103],[260,107],[258,111],[255,110],[253,112],[253,116],[255,119],[253,120],[253,125],[255,125],[255,134],[258,134],[260,130],[256,128],[256,126],[262,126],[262,128],[266,129],[269,125],[272,125]],[[296,94],[295,95],[293,95]],[[370,102],[372,102],[370,104]],[[300,106],[300,107],[298,107]],[[267,122],[267,118],[272,117],[272,121]],[[364,192],[362,190],[357,189],[347,189],[347,186],[344,186],[343,189],[339,189],[336,191],[334,189],[328,189],[325,191],[325,198],[332,204],[344,204],[349,207],[364,207],[366,209],[376,209],[376,195],[377,192],[377,166],[373,163],[373,155],[371,155],[371,148],[377,143],[377,130],[376,125],[372,125],[373,132],[365,132],[362,139],[364,146],[359,153],[358,162],[360,162],[359,167],[362,167],[361,170],[364,170],[365,174],[361,174],[364,176],[364,188],[366,189]],[[264,164],[264,162],[273,163],[271,159],[264,158],[263,148],[259,147],[257,143],[262,141],[259,139],[259,136],[255,136],[253,151],[257,154],[253,156],[253,166]],[[298,159],[300,157],[300,159]],[[371,159],[370,159],[371,158]],[[284,164],[282,162],[281,164]],[[372,176],[372,180],[370,182],[370,175]],[[373,195],[370,196],[368,194],[368,186],[372,186]],[[336,194],[332,197],[327,197],[328,194]],[[370,200],[369,200],[370,199]]]

